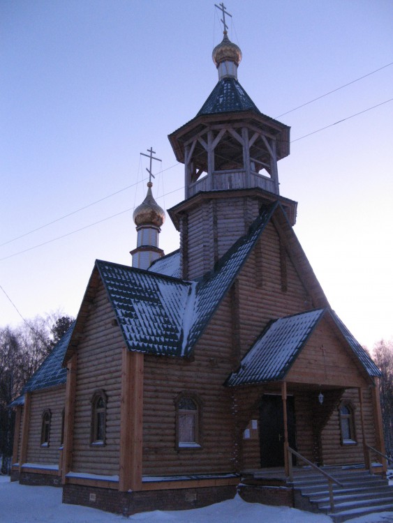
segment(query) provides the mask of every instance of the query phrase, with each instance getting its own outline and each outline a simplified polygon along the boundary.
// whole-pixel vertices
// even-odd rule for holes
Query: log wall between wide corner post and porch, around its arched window
[[[143,467],[147,476],[235,470],[232,391],[223,386],[231,370],[230,298],[195,348],[193,361],[144,357]],[[202,448],[176,448],[175,399],[202,402]]]

